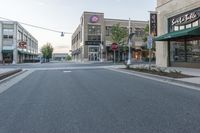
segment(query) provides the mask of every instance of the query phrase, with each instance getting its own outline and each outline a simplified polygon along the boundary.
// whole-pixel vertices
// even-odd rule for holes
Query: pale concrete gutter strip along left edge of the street
[[[3,83],[0,84],[0,94],[4,91],[6,91],[7,89],[9,89],[10,87],[12,87],[14,84],[18,83],[19,81],[23,80],[24,78],[26,78],[28,75],[30,75],[32,72],[34,72],[34,70],[29,70],[27,72],[24,72],[22,74],[20,74],[19,76],[16,76],[8,81],[5,81]]]

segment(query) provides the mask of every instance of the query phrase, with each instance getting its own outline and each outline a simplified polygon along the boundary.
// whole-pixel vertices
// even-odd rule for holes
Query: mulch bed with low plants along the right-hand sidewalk
[[[137,72],[159,75],[159,76],[166,76],[166,77],[170,77],[170,78],[192,78],[192,77],[195,77],[195,76],[191,76],[191,75],[182,74],[182,73],[179,73],[179,72],[160,72],[160,71],[155,71],[155,70],[138,69],[138,68],[125,68],[125,69],[137,71]]]

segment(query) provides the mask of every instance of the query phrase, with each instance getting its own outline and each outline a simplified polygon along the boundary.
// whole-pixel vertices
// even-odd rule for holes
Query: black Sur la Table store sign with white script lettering
[[[185,13],[178,17],[173,17],[171,19],[171,25],[172,26],[186,25],[198,20],[199,18],[200,18],[200,9]]]

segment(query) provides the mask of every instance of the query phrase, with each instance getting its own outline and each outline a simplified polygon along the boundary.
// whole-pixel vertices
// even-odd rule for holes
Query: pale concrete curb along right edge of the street
[[[176,78],[164,77],[164,76],[153,75],[153,74],[149,74],[149,73],[137,72],[137,71],[132,71],[132,70],[125,70],[125,69],[121,69],[121,68],[110,68],[110,69],[113,71],[124,72],[124,73],[135,75],[138,77],[143,77],[143,78],[147,78],[147,79],[152,79],[152,80],[156,80],[156,81],[171,83],[171,84],[178,85],[178,86],[183,86],[183,87],[187,87],[187,88],[195,88],[196,90],[200,90],[200,84],[181,81]]]

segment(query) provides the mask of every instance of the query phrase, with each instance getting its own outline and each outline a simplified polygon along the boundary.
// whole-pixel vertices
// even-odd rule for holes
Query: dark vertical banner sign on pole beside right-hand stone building
[[[150,34],[157,36],[157,14],[150,13]]]

